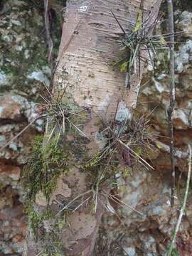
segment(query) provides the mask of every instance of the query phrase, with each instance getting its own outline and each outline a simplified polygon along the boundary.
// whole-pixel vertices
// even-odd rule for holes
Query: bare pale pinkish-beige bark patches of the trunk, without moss
[[[144,1],[144,9],[151,9],[149,25],[158,15],[160,4],[161,0]],[[136,21],[139,5],[140,1],[136,0],[68,1],[53,93],[56,94],[60,88],[67,86],[68,100],[88,109],[90,117],[83,127],[83,132],[89,140],[78,142],[78,138],[67,136],[65,144],[73,141],[74,145],[78,145],[76,150],[83,147],[90,156],[99,151],[97,133],[100,119],[108,122],[114,118],[118,102],[121,102],[130,114],[136,106],[144,63],[140,67],[140,78],[139,65],[137,74],[132,75],[131,90],[125,88],[125,74],[112,68],[112,62],[119,60],[121,55],[117,41],[122,30],[111,11],[129,33],[132,28],[130,23]],[[58,206],[53,204],[54,198],[69,202],[89,189],[86,174],[78,169],[82,164],[81,157],[78,154],[73,155],[70,172],[58,181],[60,185],[52,196],[53,200],[50,200],[54,210],[58,209]],[[41,197],[38,198],[36,207],[43,210],[45,204]],[[90,206],[85,206],[83,210],[76,210],[70,215],[70,225],[60,233],[60,241],[68,248],[65,255],[92,255],[103,210],[99,202],[94,214],[90,213]],[[43,250],[43,242],[40,240],[36,242],[28,233],[27,255],[37,255]]]

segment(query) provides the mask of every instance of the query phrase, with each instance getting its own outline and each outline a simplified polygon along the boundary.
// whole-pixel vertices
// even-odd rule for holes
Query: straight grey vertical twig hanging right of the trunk
[[[168,16],[169,16],[169,33],[170,41],[174,42],[174,11],[172,0],[167,0]],[[169,137],[170,137],[170,161],[171,161],[171,208],[174,207],[175,195],[175,164],[174,164],[174,124],[173,112],[175,105],[175,58],[174,58],[174,43],[169,43],[170,47],[170,105],[168,110],[169,119]]]

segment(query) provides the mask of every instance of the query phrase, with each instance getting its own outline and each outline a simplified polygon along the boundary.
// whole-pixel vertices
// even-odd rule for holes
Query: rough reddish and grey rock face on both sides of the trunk
[[[27,1],[8,0],[0,6],[0,44],[3,49],[0,53],[1,147],[40,114],[36,103],[43,91],[42,84],[49,86],[50,68],[42,35],[44,25],[41,11],[27,4]],[[154,170],[137,165],[131,171],[132,175],[124,179],[117,178],[119,186],[114,192],[119,194],[125,204],[121,208],[119,204],[111,202],[115,213],[105,213],[103,216],[97,255],[107,255],[109,251],[113,255],[117,247],[119,251],[116,255],[165,255],[169,245],[185,189],[187,144],[192,142],[191,18],[192,13],[189,11],[176,11],[176,29],[184,33],[177,38],[182,43],[175,53],[174,137],[178,199],[174,214],[170,219],[171,178],[167,147],[169,54],[164,51],[159,53],[155,70],[148,66],[143,84],[146,81],[148,83],[141,89],[137,106],[137,113],[150,113],[151,127],[160,134],[160,142],[156,144],[158,151],[149,154]],[[36,120],[21,137],[0,152],[0,255],[22,254],[26,216],[23,213],[20,174],[23,164],[26,164],[26,155],[30,152],[30,142],[35,134],[42,132],[42,123],[42,119]],[[191,207],[190,194],[176,241],[180,255],[192,255]]]

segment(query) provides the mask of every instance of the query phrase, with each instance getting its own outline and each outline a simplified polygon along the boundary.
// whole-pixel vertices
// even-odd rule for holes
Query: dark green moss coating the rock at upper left
[[[42,70],[43,66],[48,66],[48,47],[46,47],[45,35],[41,33],[44,28],[43,12],[36,6],[36,1],[27,0],[26,3],[21,3],[19,7],[17,4],[11,4],[13,8],[4,13],[0,22],[3,31],[6,31],[10,26],[13,15],[14,19],[22,23],[22,26],[11,26],[9,33],[12,38],[11,43],[4,39],[6,32],[3,32],[0,36],[0,43],[4,52],[1,56],[0,69],[9,75],[9,85],[1,87],[0,92],[17,90],[30,96],[31,100],[36,101],[40,97],[38,94],[33,94],[32,88],[36,87],[37,92],[40,92],[43,90],[43,85],[41,86],[40,81],[28,79],[28,74],[35,70]],[[54,26],[54,28],[55,31],[58,31],[57,26]],[[31,33],[28,31],[31,31]],[[20,38],[20,41],[17,41],[17,38]],[[53,45],[55,46],[55,42],[53,42]],[[22,50],[17,50],[17,46],[23,47]]]

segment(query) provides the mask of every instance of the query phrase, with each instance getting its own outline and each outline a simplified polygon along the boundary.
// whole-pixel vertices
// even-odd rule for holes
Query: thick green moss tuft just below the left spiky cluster
[[[57,185],[57,178],[68,171],[67,160],[68,152],[61,146],[56,146],[54,140],[43,150],[43,137],[35,138],[31,156],[22,173],[28,203],[35,201],[39,191],[49,200]]]

